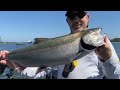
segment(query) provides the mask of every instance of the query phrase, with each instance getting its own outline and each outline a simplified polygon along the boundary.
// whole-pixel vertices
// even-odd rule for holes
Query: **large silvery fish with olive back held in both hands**
[[[67,64],[81,58],[104,43],[102,28],[91,28],[73,34],[45,39],[38,44],[8,53],[6,60],[26,67],[49,67]],[[84,52],[82,54],[82,52]]]

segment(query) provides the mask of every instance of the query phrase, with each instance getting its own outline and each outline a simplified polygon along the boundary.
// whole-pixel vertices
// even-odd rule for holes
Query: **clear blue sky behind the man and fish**
[[[120,38],[120,11],[88,11],[89,28],[102,28],[111,38]],[[4,42],[27,42],[70,33],[66,11],[0,11],[0,37]]]

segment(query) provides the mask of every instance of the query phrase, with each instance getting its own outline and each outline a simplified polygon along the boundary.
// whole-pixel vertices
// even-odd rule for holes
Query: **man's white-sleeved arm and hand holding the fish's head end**
[[[111,42],[108,40],[107,37],[105,37],[105,39],[105,45],[103,46],[103,48],[100,47],[97,51],[97,54],[100,58],[106,74],[105,76],[108,79],[120,79],[119,58]]]

